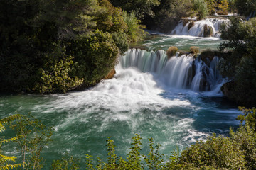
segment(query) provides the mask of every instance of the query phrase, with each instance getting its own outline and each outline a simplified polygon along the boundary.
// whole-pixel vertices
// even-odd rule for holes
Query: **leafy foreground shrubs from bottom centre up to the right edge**
[[[98,158],[93,165],[92,156],[87,155],[87,169],[256,169],[256,108],[240,108],[245,114],[238,116],[240,128],[230,137],[213,134],[206,141],[198,141],[188,149],[171,152],[169,160],[164,161],[160,144],[154,145],[149,138],[149,153],[141,154],[142,137],[132,137],[132,147],[127,159],[118,157],[114,152],[114,140],[107,140],[108,158],[103,162]],[[245,125],[243,125],[245,121]]]

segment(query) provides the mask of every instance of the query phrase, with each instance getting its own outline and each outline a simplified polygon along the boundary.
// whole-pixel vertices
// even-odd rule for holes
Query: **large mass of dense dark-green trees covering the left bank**
[[[107,0],[0,1],[0,91],[91,86],[144,31]]]

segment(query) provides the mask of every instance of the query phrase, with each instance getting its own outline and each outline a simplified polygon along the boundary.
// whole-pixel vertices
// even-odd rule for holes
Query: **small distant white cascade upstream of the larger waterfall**
[[[181,20],[171,34],[220,38],[220,26],[228,22],[230,20],[227,18],[207,18],[200,21]]]

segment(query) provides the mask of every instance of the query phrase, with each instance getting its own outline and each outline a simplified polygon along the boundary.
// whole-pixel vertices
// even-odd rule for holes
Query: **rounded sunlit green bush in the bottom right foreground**
[[[245,166],[243,152],[229,137],[208,137],[206,142],[197,142],[181,153],[181,163],[194,167],[213,166],[215,169],[239,169]]]

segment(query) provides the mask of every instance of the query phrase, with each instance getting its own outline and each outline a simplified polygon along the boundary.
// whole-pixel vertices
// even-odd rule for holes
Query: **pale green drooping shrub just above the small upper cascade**
[[[199,20],[205,18],[208,14],[207,4],[203,0],[193,0],[193,10],[196,11]]]

